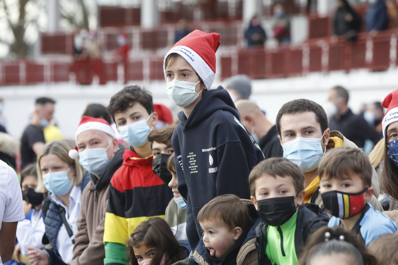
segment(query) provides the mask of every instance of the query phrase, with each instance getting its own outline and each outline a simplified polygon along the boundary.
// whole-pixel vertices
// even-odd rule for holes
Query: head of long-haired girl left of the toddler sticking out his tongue
[[[127,240],[130,264],[170,265],[189,255],[166,221],[153,217],[141,222]]]

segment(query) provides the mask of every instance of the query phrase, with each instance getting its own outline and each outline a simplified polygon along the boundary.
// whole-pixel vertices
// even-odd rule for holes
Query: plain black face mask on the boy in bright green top
[[[262,199],[257,205],[261,221],[270,226],[281,226],[296,213],[294,196]]]

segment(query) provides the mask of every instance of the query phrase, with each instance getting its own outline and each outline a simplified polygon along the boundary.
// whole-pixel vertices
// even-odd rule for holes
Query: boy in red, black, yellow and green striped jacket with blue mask
[[[152,147],[148,134],[158,122],[152,95],[138,86],[129,86],[113,95],[107,111],[121,138],[130,148],[109,187],[105,216],[104,264],[128,264],[126,241],[140,222],[164,218],[172,198],[170,188],[152,172]]]

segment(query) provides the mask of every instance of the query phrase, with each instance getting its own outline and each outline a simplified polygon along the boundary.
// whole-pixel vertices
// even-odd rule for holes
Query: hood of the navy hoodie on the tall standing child
[[[202,99],[193,108],[188,119],[183,111],[178,113],[178,118],[182,123],[181,127],[185,130],[195,127],[195,125],[209,118],[217,110],[231,112],[232,115],[240,120],[239,112],[234,102],[222,86],[217,87],[217,89],[207,90]]]

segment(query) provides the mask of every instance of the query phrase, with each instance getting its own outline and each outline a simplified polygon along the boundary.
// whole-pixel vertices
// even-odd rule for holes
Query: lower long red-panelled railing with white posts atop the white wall
[[[221,79],[246,74],[252,79],[281,78],[306,75],[310,72],[350,72],[365,68],[384,71],[397,65],[398,31],[388,30],[371,37],[360,33],[355,43],[344,39],[310,39],[302,45],[279,46],[273,49],[234,48],[220,50]],[[121,69],[121,71],[119,71]],[[71,73],[74,73],[74,75]],[[52,58],[0,62],[0,85],[25,85],[74,81],[91,84],[97,76],[100,84],[109,81],[163,80],[163,57],[133,56],[126,63],[103,58],[64,61]]]

